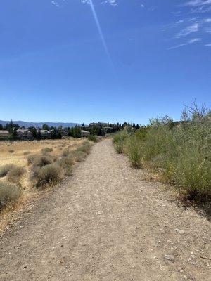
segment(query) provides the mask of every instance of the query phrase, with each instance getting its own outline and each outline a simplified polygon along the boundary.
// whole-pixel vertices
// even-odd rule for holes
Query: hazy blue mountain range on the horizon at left
[[[6,125],[6,123],[9,123],[10,121],[3,121],[0,120],[0,124],[2,124],[3,126]],[[25,126],[30,127],[30,126],[34,126],[34,127],[39,127],[41,128],[43,124],[47,124],[48,126],[53,126],[53,127],[58,127],[58,126],[63,126],[63,128],[65,127],[74,127],[76,125],[81,126],[81,124],[78,123],[63,123],[63,122],[25,122],[25,121],[13,121],[14,124],[18,124],[19,126]]]

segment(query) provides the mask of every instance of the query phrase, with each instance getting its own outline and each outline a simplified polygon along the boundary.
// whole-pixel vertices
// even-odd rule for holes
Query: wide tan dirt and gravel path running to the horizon
[[[209,280],[207,218],[141,178],[110,140],[94,145],[0,240],[0,280]]]

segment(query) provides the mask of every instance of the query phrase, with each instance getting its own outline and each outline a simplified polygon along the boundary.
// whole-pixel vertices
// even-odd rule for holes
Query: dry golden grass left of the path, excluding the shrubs
[[[31,170],[27,164],[27,157],[29,155],[43,155],[41,151],[45,148],[52,148],[49,152],[52,157],[61,155],[61,151],[68,149],[69,151],[75,150],[77,145],[82,143],[83,139],[77,138],[64,138],[60,140],[46,140],[43,141],[1,141],[0,142],[0,168],[6,164],[14,164],[17,167],[24,167],[25,174],[20,177],[17,183],[20,186],[21,193],[20,199],[14,204],[8,204],[6,208],[1,210],[0,220],[0,233],[5,228],[8,221],[11,221],[13,212],[20,210],[27,200],[31,199],[37,190],[32,188]],[[11,150],[14,152],[11,153]],[[1,177],[0,181],[7,182],[7,176]]]

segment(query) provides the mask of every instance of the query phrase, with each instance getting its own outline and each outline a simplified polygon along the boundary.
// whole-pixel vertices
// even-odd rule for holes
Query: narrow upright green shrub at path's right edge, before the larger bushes
[[[130,138],[128,138],[125,150],[132,167],[136,169],[141,168],[142,153],[139,138],[137,138],[136,136],[131,136]]]

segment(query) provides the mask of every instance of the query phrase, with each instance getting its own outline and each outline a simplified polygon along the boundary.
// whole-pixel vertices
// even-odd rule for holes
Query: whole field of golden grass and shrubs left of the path
[[[72,166],[82,161],[90,149],[91,142],[72,138],[1,142],[0,230],[11,211],[40,190],[71,176]]]

